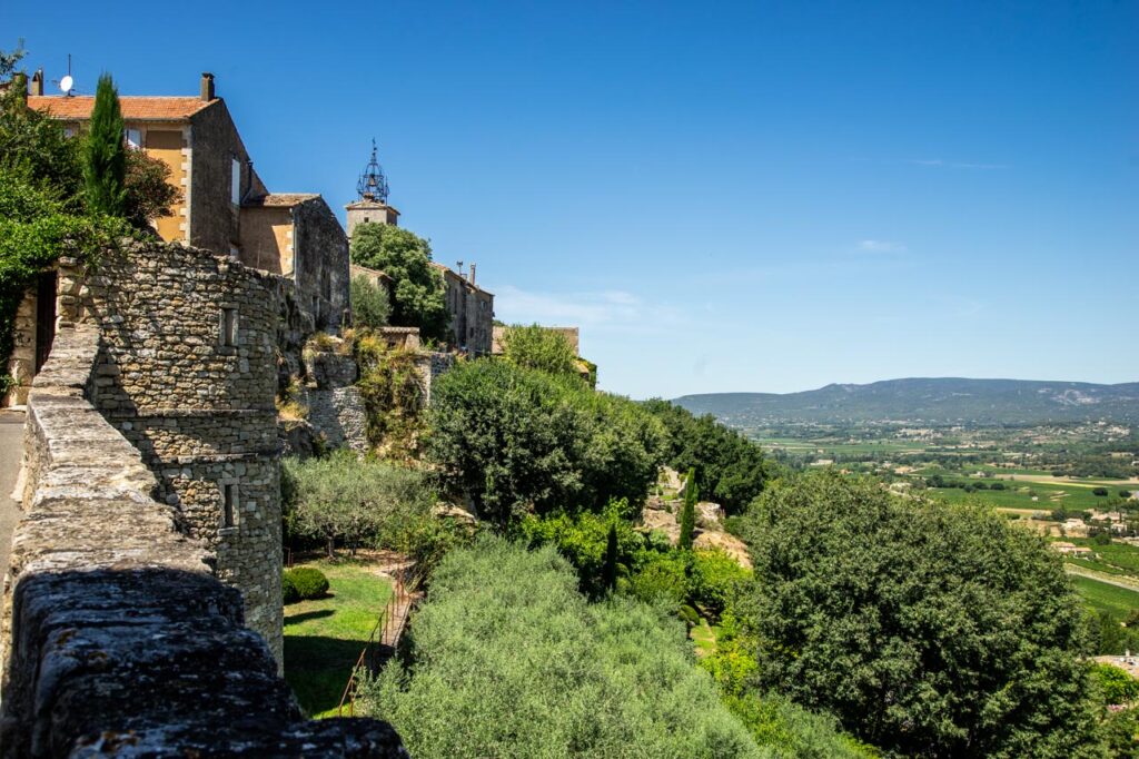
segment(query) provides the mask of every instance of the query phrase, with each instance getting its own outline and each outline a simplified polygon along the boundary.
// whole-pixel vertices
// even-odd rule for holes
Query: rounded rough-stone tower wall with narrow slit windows
[[[91,402],[142,455],[179,527],[282,648],[278,341],[284,280],[180,244],[60,261],[60,323],[99,327]]]

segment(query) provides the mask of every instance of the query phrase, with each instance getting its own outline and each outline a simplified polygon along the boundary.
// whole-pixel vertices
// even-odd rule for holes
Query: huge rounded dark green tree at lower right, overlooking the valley
[[[900,753],[1098,754],[1083,611],[1040,538],[834,472],[745,521],[763,686]]]

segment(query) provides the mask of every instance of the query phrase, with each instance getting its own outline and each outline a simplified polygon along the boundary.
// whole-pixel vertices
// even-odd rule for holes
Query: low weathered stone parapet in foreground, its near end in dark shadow
[[[103,334],[62,329],[28,399],[0,756],[407,757],[383,723],[303,719],[238,593],[88,401]]]

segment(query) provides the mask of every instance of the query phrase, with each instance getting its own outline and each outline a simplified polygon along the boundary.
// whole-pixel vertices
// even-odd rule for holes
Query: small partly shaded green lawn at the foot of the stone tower
[[[323,598],[285,607],[285,679],[305,713],[335,717],[392,587],[367,565],[350,560],[305,566],[323,572],[329,590]]]

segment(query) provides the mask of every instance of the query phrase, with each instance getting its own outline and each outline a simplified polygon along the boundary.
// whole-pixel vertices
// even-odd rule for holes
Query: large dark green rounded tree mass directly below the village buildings
[[[639,405],[567,376],[467,361],[439,378],[427,456],[442,481],[505,527],[533,509],[639,508],[656,479],[663,432]]]

